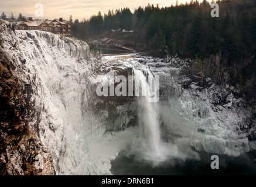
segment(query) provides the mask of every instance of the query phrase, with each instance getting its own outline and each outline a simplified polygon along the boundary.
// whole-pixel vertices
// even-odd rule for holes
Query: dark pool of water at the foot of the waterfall
[[[111,162],[113,175],[256,175],[256,152],[250,151],[240,157],[219,156],[219,169],[211,169],[211,155],[200,152],[200,160],[182,161],[178,158],[152,167],[146,161],[136,161],[121,152]]]

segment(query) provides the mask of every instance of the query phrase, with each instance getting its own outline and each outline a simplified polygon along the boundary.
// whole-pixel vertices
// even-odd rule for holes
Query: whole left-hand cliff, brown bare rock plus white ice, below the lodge
[[[4,174],[109,172],[98,168],[88,144],[106,131],[125,129],[136,110],[133,98],[99,97],[95,91],[113,65],[118,75],[131,74],[131,68],[103,64],[83,41],[47,32],[13,32],[2,20],[0,33],[5,102],[1,170],[19,166],[19,172],[7,169]]]

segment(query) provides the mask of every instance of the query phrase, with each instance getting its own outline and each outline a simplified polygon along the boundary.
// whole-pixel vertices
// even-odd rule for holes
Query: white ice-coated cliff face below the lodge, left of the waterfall
[[[126,98],[97,98],[97,77],[108,71],[100,54],[83,41],[48,32],[12,32],[2,20],[0,26],[1,50],[30,81],[26,84],[32,89],[31,107],[37,116],[29,127],[52,154],[57,174],[110,174],[98,169],[88,143],[97,142],[106,130],[125,128],[134,114],[127,115],[133,106]],[[121,66],[117,70],[128,71]]]

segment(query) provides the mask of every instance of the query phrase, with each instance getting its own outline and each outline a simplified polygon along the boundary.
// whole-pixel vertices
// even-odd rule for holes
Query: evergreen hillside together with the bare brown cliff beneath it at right
[[[104,15],[98,12],[83,22],[76,19],[73,36],[95,39],[111,29],[134,30],[129,39],[130,44],[136,45],[134,47],[141,44],[155,57],[169,54],[196,60],[197,65],[193,63],[190,67],[190,72],[196,72],[193,76],[200,74],[202,80],[209,77],[218,84],[228,81],[240,87],[247,99],[255,98],[256,1],[222,0],[216,3],[219,17],[214,18],[211,17],[213,8],[206,0],[165,8],[148,4],[139,6],[133,13],[128,8],[108,11]],[[219,59],[216,61],[219,64],[211,62],[213,56]]]

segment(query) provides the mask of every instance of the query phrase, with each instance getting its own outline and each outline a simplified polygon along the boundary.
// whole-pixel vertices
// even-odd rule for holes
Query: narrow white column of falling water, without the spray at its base
[[[152,87],[147,82],[145,75],[140,70],[134,69],[135,95],[138,97],[138,119],[141,129],[141,137],[145,138],[148,146],[154,154],[159,154],[160,130],[159,130],[159,108],[158,103],[149,102],[152,96]],[[146,92],[146,94],[144,94]]]

